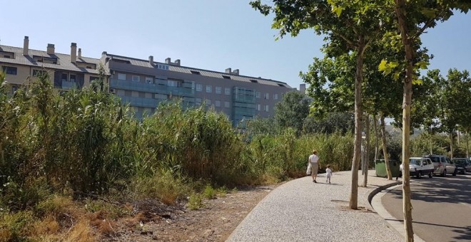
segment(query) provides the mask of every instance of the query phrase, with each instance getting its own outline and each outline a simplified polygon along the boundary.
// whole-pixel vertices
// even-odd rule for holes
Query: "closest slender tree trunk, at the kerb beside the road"
[[[414,241],[412,230],[412,204],[410,203],[409,143],[410,143],[410,104],[412,102],[412,76],[414,75],[412,58],[414,50],[407,30],[405,0],[395,0],[395,13],[399,25],[402,44],[405,49],[404,95],[402,100],[402,212],[404,214],[405,241]]]

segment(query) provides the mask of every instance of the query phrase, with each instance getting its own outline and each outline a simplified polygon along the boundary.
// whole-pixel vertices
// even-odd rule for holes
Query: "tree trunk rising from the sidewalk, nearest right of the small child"
[[[350,186],[350,201],[348,206],[350,209],[358,209],[358,165],[360,163],[361,153],[361,83],[363,80],[363,51],[365,51],[364,36],[358,37],[358,56],[357,71],[355,73],[355,142],[353,147],[352,162],[352,184]]]

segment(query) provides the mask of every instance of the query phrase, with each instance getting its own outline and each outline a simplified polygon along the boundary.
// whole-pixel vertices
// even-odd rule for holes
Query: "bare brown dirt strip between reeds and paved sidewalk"
[[[113,233],[101,241],[226,241],[240,221],[278,185],[240,188],[205,200],[202,209],[193,211],[181,204],[151,213],[155,206],[147,204],[134,218],[117,221]]]

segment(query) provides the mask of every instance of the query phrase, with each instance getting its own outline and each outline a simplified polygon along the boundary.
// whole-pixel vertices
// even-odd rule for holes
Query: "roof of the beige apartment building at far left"
[[[93,73],[98,74],[98,70],[95,69],[87,69],[81,68],[74,65],[70,61],[70,55],[62,54],[62,53],[54,53],[54,55],[49,55],[46,51],[37,51],[33,49],[29,49],[28,56],[23,56],[23,48],[13,47],[13,46],[1,46],[0,51],[5,52],[12,52],[15,54],[15,58],[3,58],[0,56],[1,63],[11,63],[17,65],[29,65],[29,66],[36,66],[38,68],[51,68],[51,69],[58,69],[58,70],[71,70],[81,73]],[[46,58],[57,58],[57,64],[51,63],[43,63],[43,62],[36,62],[33,59],[33,56],[43,56]],[[98,63],[100,63],[99,59],[95,58],[88,58],[88,57],[81,57],[76,59],[77,63],[91,63],[95,64],[98,67]]]

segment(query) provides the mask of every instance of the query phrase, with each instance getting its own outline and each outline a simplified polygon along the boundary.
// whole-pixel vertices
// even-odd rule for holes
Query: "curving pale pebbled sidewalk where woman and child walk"
[[[403,241],[381,216],[372,211],[368,195],[396,181],[368,171],[368,188],[358,187],[358,207],[348,209],[351,172],[289,181],[270,192],[250,211],[227,241]],[[359,181],[363,181],[361,171]]]

